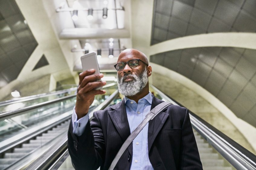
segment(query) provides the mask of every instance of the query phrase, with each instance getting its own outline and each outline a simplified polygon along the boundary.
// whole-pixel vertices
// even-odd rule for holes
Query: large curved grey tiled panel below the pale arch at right
[[[251,114],[256,101],[256,64],[248,60],[254,60],[255,54],[256,50],[245,48],[201,47],[167,51],[150,60],[159,59],[160,65],[191,79],[241,117],[241,110]],[[243,107],[234,106],[237,103]]]

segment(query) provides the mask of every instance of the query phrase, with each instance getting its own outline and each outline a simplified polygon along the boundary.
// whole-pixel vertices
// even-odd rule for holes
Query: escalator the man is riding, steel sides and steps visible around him
[[[170,97],[163,94],[154,86],[150,91],[155,97],[177,104]],[[92,112],[89,115],[92,118]],[[195,134],[199,155],[205,170],[233,170],[256,169],[256,156],[237,144],[225,134],[209,125],[203,119],[190,112],[190,120]],[[67,138],[63,137],[58,143],[45,152],[33,162],[27,169],[54,169],[71,170],[73,169],[69,153],[67,151]]]

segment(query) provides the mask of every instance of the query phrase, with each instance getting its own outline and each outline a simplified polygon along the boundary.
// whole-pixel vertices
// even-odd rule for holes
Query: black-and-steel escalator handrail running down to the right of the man
[[[153,85],[151,85],[151,87],[169,102],[182,106]],[[199,116],[196,116],[195,113],[189,111],[189,114],[193,128],[195,128],[196,131],[236,169],[256,169],[256,156],[253,153],[214,128]]]

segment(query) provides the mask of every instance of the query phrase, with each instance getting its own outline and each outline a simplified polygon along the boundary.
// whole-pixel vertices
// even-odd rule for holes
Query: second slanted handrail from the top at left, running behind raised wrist
[[[114,85],[116,85],[116,83],[111,83],[111,84],[105,85],[105,86],[103,86],[103,89],[107,88],[107,87],[110,87],[110,86],[114,86]],[[34,104],[34,105],[31,105],[31,106],[19,108],[17,110],[0,113],[0,120],[1,119],[8,119],[8,118],[13,117],[13,116],[18,116],[18,115],[23,114],[24,111],[32,110],[32,109],[42,107],[42,106],[45,106],[45,105],[48,105],[48,104],[57,103],[57,102],[60,102],[60,101],[66,100],[66,99],[70,99],[70,98],[75,97],[75,96],[76,96],[76,94],[71,94],[69,96],[64,96],[64,97],[60,97],[60,98],[57,98],[57,99],[53,99],[53,100],[45,101],[45,102],[42,102],[42,103]]]

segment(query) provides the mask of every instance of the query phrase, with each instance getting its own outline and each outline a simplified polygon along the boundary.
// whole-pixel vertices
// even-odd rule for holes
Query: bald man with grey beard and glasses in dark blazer
[[[75,111],[68,132],[68,148],[76,169],[108,169],[131,132],[147,113],[163,102],[149,92],[152,68],[147,57],[135,49],[121,52],[115,65],[122,102],[93,114],[88,111],[94,90],[106,82],[103,75],[87,70],[79,75]],[[164,82],[163,82],[164,83]],[[115,169],[203,169],[188,110],[171,105],[149,121],[125,150]]]

